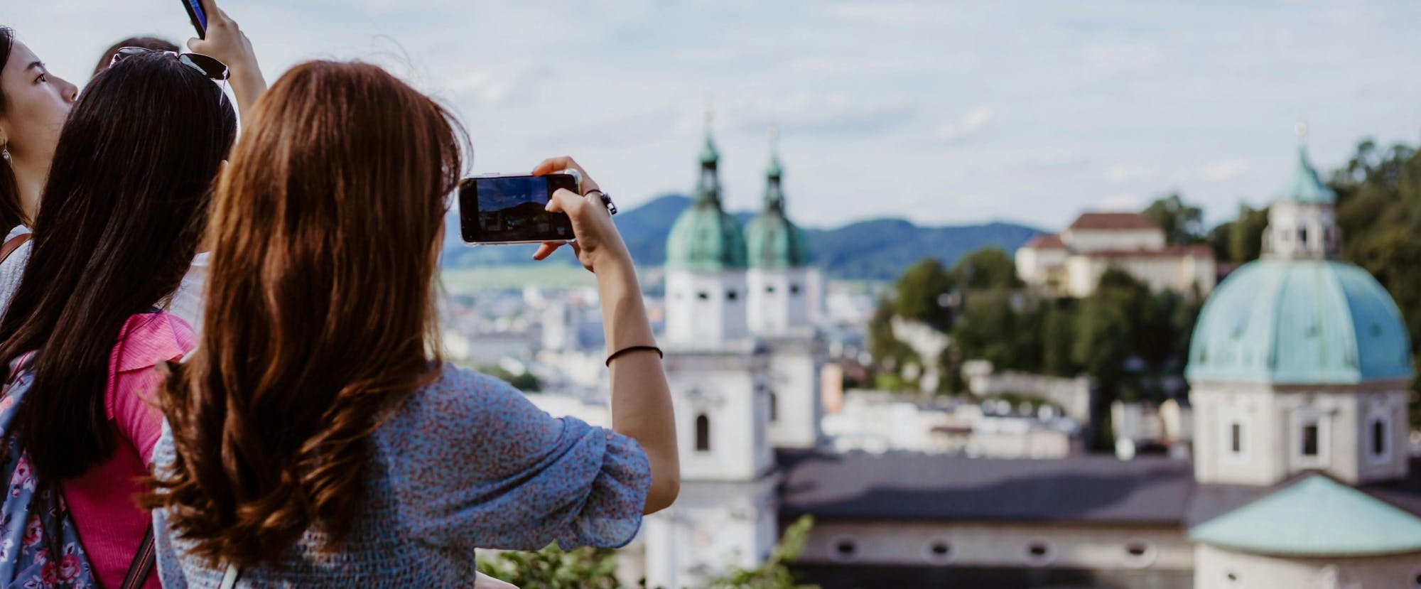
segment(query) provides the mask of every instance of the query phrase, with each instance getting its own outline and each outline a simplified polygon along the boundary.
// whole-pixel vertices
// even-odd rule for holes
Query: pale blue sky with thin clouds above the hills
[[[82,83],[131,34],[192,36],[178,0],[7,0],[0,24]],[[710,129],[729,209],[1056,229],[1181,191],[1209,222],[1296,159],[1421,131],[1421,3],[1363,0],[227,0],[269,80],[388,67],[450,105],[472,172],[577,158],[622,209],[689,192]]]

